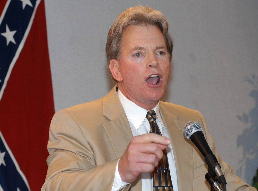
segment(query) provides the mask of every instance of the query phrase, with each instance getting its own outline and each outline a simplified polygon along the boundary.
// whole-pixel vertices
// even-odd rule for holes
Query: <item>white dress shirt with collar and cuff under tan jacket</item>
[[[130,128],[132,131],[132,135],[137,136],[137,135],[149,133],[150,123],[146,118],[146,114],[148,110],[143,109],[140,106],[133,103],[132,101],[128,100],[120,90],[117,91],[117,95],[127,115],[127,119],[129,121]],[[168,131],[165,128],[162,116],[160,115],[160,112],[159,112],[159,103],[152,110],[154,110],[156,113],[156,120],[160,129],[160,133],[163,136],[168,137]],[[170,176],[173,184],[173,190],[178,191],[176,165],[175,165],[171,144],[167,147],[167,156],[168,156]],[[122,179],[118,171],[118,162],[116,166],[115,179],[113,182],[112,191],[117,191],[122,187],[124,187],[125,185],[129,184],[126,182],[122,182]],[[153,191],[152,173],[141,173],[141,183],[142,183],[142,190]]]

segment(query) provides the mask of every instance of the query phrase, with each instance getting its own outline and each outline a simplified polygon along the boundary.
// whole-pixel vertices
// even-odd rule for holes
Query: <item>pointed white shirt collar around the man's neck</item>
[[[119,89],[117,91],[117,96],[121,102],[121,105],[124,108],[127,119],[132,123],[134,128],[137,130],[143,123],[144,119],[146,118],[146,114],[148,110],[141,108],[139,105],[136,105],[131,100],[128,100]],[[151,110],[155,111],[156,117],[158,118],[158,120],[160,121],[160,123],[164,128],[162,117],[159,113],[159,103]]]

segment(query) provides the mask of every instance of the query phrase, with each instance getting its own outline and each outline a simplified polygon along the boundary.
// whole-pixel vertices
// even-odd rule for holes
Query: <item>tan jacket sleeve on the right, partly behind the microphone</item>
[[[199,111],[198,111],[199,112]],[[227,190],[236,190],[236,191],[257,191],[254,187],[251,187],[249,186],[249,184],[246,184],[242,181],[242,179],[240,179],[238,176],[234,175],[233,173],[233,170],[231,168],[231,166],[222,161],[222,159],[220,158],[219,156],[219,153],[217,151],[217,148],[214,144],[214,139],[213,137],[209,134],[209,130],[207,128],[207,123],[205,121],[205,118],[204,116],[199,112],[200,114],[200,117],[201,117],[201,120],[202,120],[202,123],[203,123],[203,127],[204,127],[204,134],[205,134],[205,137],[207,139],[207,142],[213,152],[213,154],[216,156],[219,164],[221,165],[221,170],[222,172],[224,173],[225,175],[225,179],[227,181]]]

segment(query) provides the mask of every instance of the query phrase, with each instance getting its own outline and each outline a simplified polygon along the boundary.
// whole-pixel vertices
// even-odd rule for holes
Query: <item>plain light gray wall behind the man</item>
[[[138,4],[163,12],[173,36],[164,100],[200,110],[223,160],[250,184],[258,167],[257,1],[45,0],[56,111],[115,84],[105,60],[108,30]]]

